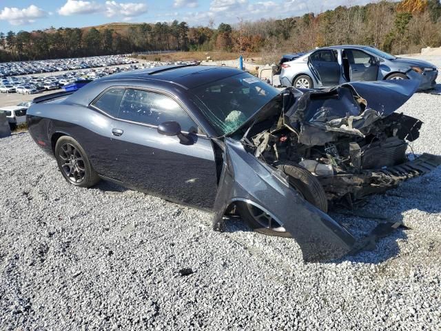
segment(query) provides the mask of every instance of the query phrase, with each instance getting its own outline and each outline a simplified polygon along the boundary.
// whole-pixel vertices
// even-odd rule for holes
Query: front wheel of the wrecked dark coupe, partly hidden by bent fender
[[[287,161],[277,162],[274,166],[287,174],[289,185],[300,194],[300,197],[323,212],[327,212],[328,201],[325,190],[323,190],[322,185],[311,172],[296,163]],[[240,216],[247,221],[254,231],[269,236],[291,237],[291,234],[282,225],[256,206],[240,202],[236,204],[236,207]]]

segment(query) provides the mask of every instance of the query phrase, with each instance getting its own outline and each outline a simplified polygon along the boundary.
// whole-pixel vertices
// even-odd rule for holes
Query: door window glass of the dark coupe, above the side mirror
[[[166,121],[176,121],[183,131],[198,132],[196,123],[174,99],[145,90],[131,88],[125,90],[118,117],[152,126],[158,126]]]

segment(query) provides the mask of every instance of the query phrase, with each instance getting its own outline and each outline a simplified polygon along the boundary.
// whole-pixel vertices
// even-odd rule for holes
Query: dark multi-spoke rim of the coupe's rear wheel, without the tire
[[[81,152],[70,143],[60,148],[61,170],[72,183],[81,183],[85,178],[85,165]]]

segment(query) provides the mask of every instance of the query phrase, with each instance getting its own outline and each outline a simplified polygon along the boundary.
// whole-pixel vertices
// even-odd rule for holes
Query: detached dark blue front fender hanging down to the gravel
[[[240,142],[225,138],[215,221],[234,201],[249,201],[282,223],[300,245],[305,262],[342,257],[355,243],[340,223],[302,199],[277,170],[249,154]]]

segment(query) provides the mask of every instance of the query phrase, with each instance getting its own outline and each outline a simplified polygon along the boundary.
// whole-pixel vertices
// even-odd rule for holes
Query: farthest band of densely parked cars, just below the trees
[[[18,76],[21,74],[41,74],[67,70],[84,70],[107,66],[119,66],[136,63],[124,55],[108,55],[104,57],[82,57],[76,59],[56,59],[43,61],[18,61],[0,63],[0,77]]]

